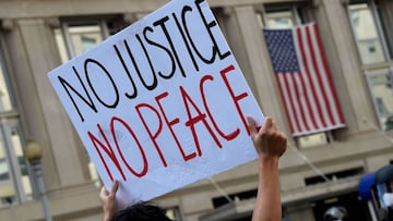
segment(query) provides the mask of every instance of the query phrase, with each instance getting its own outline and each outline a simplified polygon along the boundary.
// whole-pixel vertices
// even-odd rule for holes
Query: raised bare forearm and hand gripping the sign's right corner
[[[259,131],[252,119],[249,118],[248,123],[251,139],[259,156],[259,184],[252,221],[279,221],[282,205],[278,159],[286,150],[287,138],[269,116],[265,118]]]

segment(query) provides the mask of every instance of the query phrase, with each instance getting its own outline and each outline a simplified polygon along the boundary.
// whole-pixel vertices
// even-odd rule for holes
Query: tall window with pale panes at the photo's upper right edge
[[[390,33],[383,25],[389,21],[384,21],[388,17],[383,16],[381,8],[374,0],[353,0],[348,5],[348,15],[379,126],[382,131],[391,131],[393,63],[389,48]]]

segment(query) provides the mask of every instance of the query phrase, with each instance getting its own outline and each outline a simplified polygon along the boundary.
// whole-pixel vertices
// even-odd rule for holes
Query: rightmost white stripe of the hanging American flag
[[[329,78],[327,78],[327,71],[324,69],[323,66],[323,62],[322,62],[322,58],[321,58],[321,52],[320,48],[318,47],[318,42],[315,39],[315,26],[310,26],[310,32],[311,32],[311,38],[312,38],[312,47],[315,51],[315,59],[318,62],[318,66],[320,67],[320,73],[321,73],[321,77],[322,77],[322,83],[323,83],[323,88],[326,91],[326,96],[327,96],[327,101],[329,101],[329,107],[332,111],[333,118],[334,118],[334,122],[332,122],[332,125],[335,125],[337,123],[341,123],[340,121],[340,113],[335,103],[335,98],[333,96],[332,89],[330,84],[329,84]]]

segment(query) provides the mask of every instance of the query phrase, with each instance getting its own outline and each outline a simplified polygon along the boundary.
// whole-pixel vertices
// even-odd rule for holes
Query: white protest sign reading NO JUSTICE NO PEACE
[[[204,0],[167,3],[49,79],[120,205],[257,158],[246,118],[263,114]]]

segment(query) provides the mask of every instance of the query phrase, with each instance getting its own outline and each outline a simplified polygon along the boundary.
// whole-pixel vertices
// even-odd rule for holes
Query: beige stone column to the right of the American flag
[[[314,13],[349,134],[378,125],[343,0],[314,0]]]

